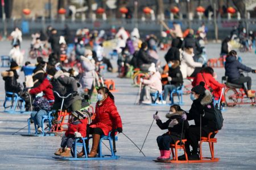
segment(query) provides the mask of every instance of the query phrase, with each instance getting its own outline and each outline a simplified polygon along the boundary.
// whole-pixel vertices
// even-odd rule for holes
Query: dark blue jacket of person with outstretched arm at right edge
[[[236,80],[241,76],[240,69],[242,71],[251,72],[251,68],[240,63],[236,56],[226,57],[225,63],[225,76],[228,76],[229,80]]]

